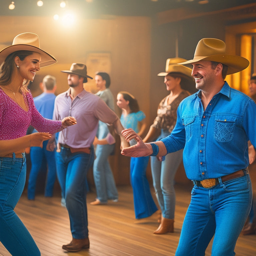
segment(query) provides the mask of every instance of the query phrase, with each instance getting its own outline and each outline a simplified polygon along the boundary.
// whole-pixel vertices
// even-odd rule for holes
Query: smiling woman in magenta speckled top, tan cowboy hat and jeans
[[[26,180],[24,148],[42,146],[51,134],[76,123],[43,118],[27,89],[40,67],[56,63],[40,49],[36,34],[17,35],[11,46],[0,51],[0,241],[13,256],[37,256],[40,251],[14,212]],[[26,135],[29,125],[38,133]]]

